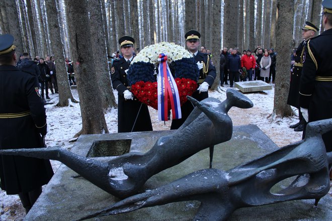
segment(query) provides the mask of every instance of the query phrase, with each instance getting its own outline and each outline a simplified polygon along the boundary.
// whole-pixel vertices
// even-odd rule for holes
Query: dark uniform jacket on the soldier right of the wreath
[[[209,87],[211,87],[214,79],[216,79],[217,72],[209,55],[198,51],[197,55],[195,56],[195,61],[203,61],[207,68],[207,73],[204,73],[204,68],[199,71],[199,78],[197,84],[200,85],[203,82],[207,82],[209,84]]]

